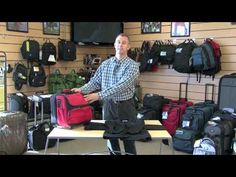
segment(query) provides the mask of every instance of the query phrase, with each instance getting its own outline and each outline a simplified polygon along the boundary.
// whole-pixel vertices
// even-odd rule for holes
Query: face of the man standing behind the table
[[[116,49],[116,53],[119,53],[120,55],[126,55],[130,48],[129,40],[126,36],[118,36],[116,38],[114,46]]]

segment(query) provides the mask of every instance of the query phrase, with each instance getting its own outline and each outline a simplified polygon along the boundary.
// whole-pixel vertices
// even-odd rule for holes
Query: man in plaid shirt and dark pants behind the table
[[[72,91],[85,94],[84,97],[89,103],[102,100],[105,120],[134,120],[136,109],[133,96],[139,65],[127,56],[130,49],[127,35],[119,34],[114,47],[115,56],[99,66],[89,83],[81,88],[73,88]],[[98,92],[91,93],[94,91]],[[134,141],[123,140],[123,143],[126,153],[136,154]],[[120,154],[118,139],[108,140],[108,149],[111,154]]]

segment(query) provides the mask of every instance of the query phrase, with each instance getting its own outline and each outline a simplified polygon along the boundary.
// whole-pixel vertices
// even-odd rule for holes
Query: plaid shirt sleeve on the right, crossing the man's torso
[[[100,99],[112,97],[117,93],[122,93],[126,91],[126,89],[134,87],[135,81],[138,79],[139,74],[138,63],[132,63],[127,68],[127,72],[122,76],[119,82],[98,92]]]

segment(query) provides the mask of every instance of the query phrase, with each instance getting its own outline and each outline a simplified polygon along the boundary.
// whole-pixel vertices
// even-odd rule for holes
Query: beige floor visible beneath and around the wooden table
[[[175,151],[170,146],[161,143],[160,140],[152,140],[149,142],[136,141],[136,149],[138,155],[189,155],[184,152]],[[161,152],[160,152],[160,144]],[[123,150],[123,143],[121,142]],[[42,155],[44,150],[28,151],[25,155]],[[48,148],[47,155],[57,154],[56,146]],[[61,155],[108,155],[106,148],[106,140],[102,139],[80,139],[60,142]]]

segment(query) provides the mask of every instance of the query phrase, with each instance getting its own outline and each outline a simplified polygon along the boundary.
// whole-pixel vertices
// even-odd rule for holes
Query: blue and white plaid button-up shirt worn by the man
[[[131,99],[139,76],[139,65],[129,57],[118,60],[112,57],[102,62],[90,82],[81,87],[83,94],[98,92],[100,99],[124,101]]]

